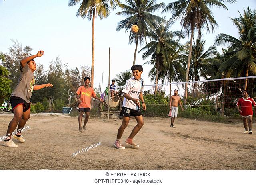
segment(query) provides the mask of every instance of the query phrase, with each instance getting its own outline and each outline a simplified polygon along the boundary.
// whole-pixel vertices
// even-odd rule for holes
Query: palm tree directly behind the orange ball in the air
[[[126,0],[126,4],[120,4],[123,11],[116,13],[116,15],[128,16],[128,18],[118,22],[116,31],[120,31],[121,29],[129,31],[132,25],[137,25],[139,27],[139,31],[137,33],[130,31],[129,44],[134,42],[136,43],[132,63],[132,65],[134,65],[138,42],[142,44],[144,40],[146,40],[146,37],[148,36],[148,27],[153,27],[157,21],[164,21],[164,19],[159,16],[152,14],[159,8],[163,8],[164,3],[156,4],[156,0]]]

